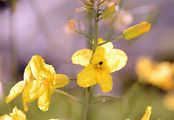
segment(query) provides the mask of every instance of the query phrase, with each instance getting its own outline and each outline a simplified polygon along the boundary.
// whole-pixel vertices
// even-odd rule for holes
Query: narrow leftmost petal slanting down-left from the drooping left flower
[[[6,102],[11,102],[16,96],[18,96],[25,87],[25,81],[18,82],[15,86],[13,86],[10,90],[9,95],[6,97]]]

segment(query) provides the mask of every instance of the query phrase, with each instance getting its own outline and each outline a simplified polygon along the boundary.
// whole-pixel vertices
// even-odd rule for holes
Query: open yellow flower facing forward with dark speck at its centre
[[[104,41],[99,39],[99,44],[102,42]],[[97,47],[93,58],[92,54],[92,50],[89,49],[82,49],[73,54],[72,63],[85,66],[77,75],[77,83],[85,88],[98,83],[103,92],[109,92],[112,90],[110,73],[118,71],[126,65],[127,55],[120,49],[113,49],[110,42]]]

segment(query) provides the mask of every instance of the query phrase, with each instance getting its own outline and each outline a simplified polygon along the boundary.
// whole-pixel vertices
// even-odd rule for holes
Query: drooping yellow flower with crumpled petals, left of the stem
[[[69,79],[64,74],[56,74],[52,65],[45,63],[39,55],[34,55],[24,72],[24,80],[18,82],[10,90],[6,102],[12,101],[22,93],[24,110],[27,111],[27,103],[38,98],[38,106],[42,111],[47,111],[50,97],[54,89],[67,85]]]

